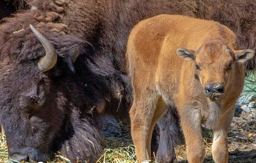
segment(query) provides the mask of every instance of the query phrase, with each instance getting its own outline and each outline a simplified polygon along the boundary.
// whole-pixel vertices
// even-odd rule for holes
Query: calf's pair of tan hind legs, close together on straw
[[[151,160],[152,132],[166,108],[162,98],[152,98],[151,96],[150,98],[142,98],[142,100],[134,99],[130,110],[131,135],[139,162]]]

